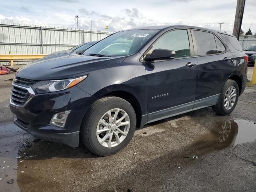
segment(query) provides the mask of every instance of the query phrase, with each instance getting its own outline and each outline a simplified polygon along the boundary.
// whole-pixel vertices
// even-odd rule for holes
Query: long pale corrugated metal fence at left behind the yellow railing
[[[0,24],[0,54],[50,54],[78,44],[101,40],[112,31],[94,31],[33,25]],[[27,64],[16,61],[14,64]],[[0,62],[8,64],[8,61]]]

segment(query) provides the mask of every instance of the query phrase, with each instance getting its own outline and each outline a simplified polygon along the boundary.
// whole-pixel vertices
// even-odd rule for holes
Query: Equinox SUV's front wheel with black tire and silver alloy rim
[[[92,104],[82,124],[82,142],[91,152],[108,156],[124,148],[136,128],[136,114],[126,100],[108,96]]]

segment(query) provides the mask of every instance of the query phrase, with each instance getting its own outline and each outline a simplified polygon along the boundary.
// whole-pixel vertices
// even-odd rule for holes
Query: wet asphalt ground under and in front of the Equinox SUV
[[[37,140],[0,118],[3,192],[256,191],[256,86],[228,116],[209,107],[148,124],[107,157]]]

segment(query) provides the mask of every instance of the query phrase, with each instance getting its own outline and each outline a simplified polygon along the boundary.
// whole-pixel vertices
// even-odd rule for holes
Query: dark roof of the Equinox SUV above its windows
[[[159,29],[159,30],[164,30],[164,29],[167,29],[167,28],[170,28],[170,29],[172,29],[172,28],[192,28],[192,29],[206,30],[206,31],[214,32],[214,33],[221,33],[221,34],[233,36],[232,34],[228,34],[226,32],[221,32],[221,31],[217,31],[217,30],[213,30],[213,29],[208,29],[208,28],[203,28],[203,27],[189,26],[189,25],[146,26],[146,27],[132,28],[132,29],[129,29],[129,30],[143,30],[143,29]],[[124,30],[124,31],[126,31],[126,30]],[[233,36],[233,37],[235,37],[235,36]]]

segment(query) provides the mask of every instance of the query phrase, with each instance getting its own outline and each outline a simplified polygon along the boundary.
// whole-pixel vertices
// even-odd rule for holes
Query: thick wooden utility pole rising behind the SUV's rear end
[[[236,17],[233,28],[233,35],[239,40],[240,30],[242,26],[242,20],[244,15],[245,0],[237,0],[236,4]]]

